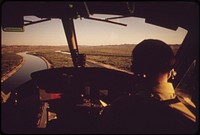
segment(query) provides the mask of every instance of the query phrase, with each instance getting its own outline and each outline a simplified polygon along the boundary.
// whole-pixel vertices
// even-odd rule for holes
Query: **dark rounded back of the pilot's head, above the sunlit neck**
[[[135,74],[157,74],[170,71],[175,64],[172,49],[160,40],[140,42],[132,51],[132,71]]]

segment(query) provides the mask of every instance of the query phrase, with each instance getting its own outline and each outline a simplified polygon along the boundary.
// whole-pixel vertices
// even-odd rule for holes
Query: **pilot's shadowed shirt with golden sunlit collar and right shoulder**
[[[195,115],[177,98],[171,83],[138,84],[135,91],[105,109],[108,133],[193,133]]]

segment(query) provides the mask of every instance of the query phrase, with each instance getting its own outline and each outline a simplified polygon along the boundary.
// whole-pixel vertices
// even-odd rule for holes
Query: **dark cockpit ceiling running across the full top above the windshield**
[[[147,23],[176,30],[190,29],[199,19],[195,2],[4,2],[2,20],[14,20],[20,16],[34,15],[39,18],[88,18],[93,14],[109,14],[124,17],[145,18]],[[14,19],[13,16],[18,16]],[[5,19],[10,18],[10,19]],[[19,19],[19,21],[21,21]],[[195,21],[196,20],[196,21]]]

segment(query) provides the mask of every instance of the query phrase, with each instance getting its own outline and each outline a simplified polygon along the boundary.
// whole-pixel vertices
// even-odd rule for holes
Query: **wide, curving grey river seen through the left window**
[[[1,90],[4,93],[10,92],[30,80],[32,72],[47,69],[47,64],[40,57],[27,54],[26,52],[18,54],[24,58],[24,64],[14,75],[1,84]]]

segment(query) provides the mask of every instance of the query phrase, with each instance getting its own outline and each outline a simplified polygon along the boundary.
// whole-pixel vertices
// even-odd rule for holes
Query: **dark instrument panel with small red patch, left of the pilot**
[[[17,117],[11,121],[17,130],[36,133],[97,133],[104,109],[134,83],[132,74],[96,67],[53,68],[31,77],[12,94]]]

